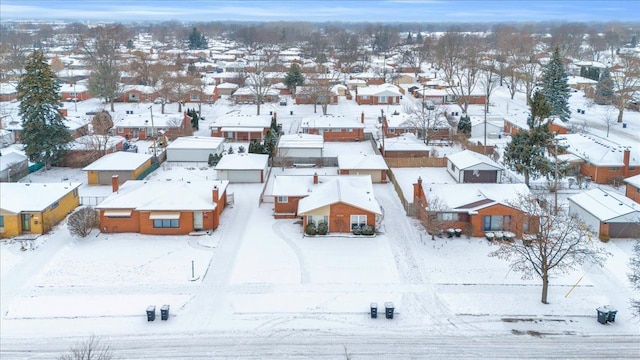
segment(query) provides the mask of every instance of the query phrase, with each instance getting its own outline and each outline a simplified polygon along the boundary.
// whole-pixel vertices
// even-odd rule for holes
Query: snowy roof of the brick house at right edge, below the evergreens
[[[624,166],[624,151],[629,149],[629,165],[640,166],[640,147],[624,146],[591,134],[565,134],[559,144],[570,152],[597,166]]]

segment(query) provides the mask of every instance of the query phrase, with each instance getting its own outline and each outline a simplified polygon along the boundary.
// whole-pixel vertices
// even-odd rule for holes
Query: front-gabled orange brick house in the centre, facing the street
[[[376,226],[382,215],[370,176],[336,176],[311,188],[298,201],[303,229],[307,224],[326,223],[329,232],[348,233],[355,227]]]

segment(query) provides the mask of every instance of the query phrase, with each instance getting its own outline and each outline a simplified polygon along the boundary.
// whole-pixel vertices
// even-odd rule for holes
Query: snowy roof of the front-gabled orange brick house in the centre
[[[336,203],[345,203],[382,215],[380,204],[373,193],[371,176],[336,176],[318,187],[298,202],[298,214]]]

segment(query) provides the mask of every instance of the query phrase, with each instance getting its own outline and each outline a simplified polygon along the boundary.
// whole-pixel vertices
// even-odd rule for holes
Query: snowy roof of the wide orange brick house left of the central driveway
[[[214,186],[218,187],[218,195],[222,196],[228,185],[227,180],[129,180],[97,208],[139,211],[213,210],[217,206],[212,200]]]

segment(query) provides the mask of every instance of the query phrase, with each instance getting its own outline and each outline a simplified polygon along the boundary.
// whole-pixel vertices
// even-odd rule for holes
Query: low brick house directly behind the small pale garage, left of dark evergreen
[[[275,115],[227,115],[213,119],[209,124],[212,137],[222,137],[232,142],[262,141],[271,129]]]

